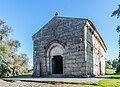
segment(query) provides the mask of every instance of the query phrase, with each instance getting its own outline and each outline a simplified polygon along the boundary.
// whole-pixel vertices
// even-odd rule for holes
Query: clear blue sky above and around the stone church
[[[20,52],[28,55],[32,66],[32,35],[45,25],[55,12],[59,16],[88,18],[96,26],[108,51],[107,59],[118,56],[116,26],[120,19],[110,17],[120,0],[0,0],[0,19],[12,27],[11,37],[21,43]]]

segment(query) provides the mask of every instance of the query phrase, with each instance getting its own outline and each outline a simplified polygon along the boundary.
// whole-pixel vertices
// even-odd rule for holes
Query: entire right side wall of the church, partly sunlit
[[[86,43],[85,59],[87,75],[104,75],[105,74],[105,50],[103,49],[98,33],[87,22],[85,26]]]

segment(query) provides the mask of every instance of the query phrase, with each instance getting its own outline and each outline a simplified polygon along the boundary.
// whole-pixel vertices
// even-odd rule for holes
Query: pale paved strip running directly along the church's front
[[[98,82],[102,79],[105,79],[107,77],[111,77],[113,75],[105,75],[105,76],[99,76],[95,78],[47,78],[47,77],[19,77],[19,78],[3,78],[4,80],[13,80],[13,81],[28,81],[28,82]]]

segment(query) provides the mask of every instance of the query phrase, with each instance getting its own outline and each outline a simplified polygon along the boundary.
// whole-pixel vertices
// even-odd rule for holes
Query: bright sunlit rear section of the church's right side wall
[[[94,75],[105,74],[105,50],[101,46],[101,41],[96,32],[93,35],[93,73]]]

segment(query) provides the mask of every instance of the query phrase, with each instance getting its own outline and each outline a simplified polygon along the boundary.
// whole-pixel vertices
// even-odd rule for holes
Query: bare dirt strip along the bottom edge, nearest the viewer
[[[37,83],[37,82],[6,82],[0,80],[0,87],[98,87],[92,85],[75,85],[75,84],[47,84],[47,83]]]

